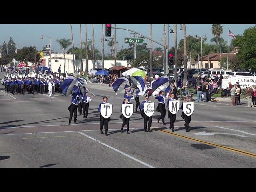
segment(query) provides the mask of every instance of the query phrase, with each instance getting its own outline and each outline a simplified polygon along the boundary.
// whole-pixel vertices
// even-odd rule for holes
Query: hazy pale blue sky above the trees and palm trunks
[[[169,24],[171,26],[173,24]],[[253,27],[255,24],[222,24],[223,33],[220,37],[228,41],[228,29],[231,30],[234,35],[243,34],[244,30],[249,27]],[[114,26],[114,24],[112,24]],[[103,24],[104,39],[110,39],[110,37],[105,37],[105,24]],[[149,24],[116,24],[116,27],[128,28],[141,33],[145,36],[150,37],[150,27]],[[184,32],[179,30],[179,25],[177,25],[177,43],[180,39],[183,39]],[[171,26],[173,28],[174,26]],[[206,43],[211,43],[210,39],[214,36],[211,31],[212,24],[186,24],[186,34],[195,36],[206,35]],[[0,24],[0,44],[5,41],[8,43],[10,37],[14,40],[16,45],[18,44],[19,49],[23,46],[36,46],[37,50],[42,50],[43,46],[50,44],[50,40],[44,37],[43,40],[40,39],[41,35],[47,35],[52,38],[52,50],[61,53],[61,48],[56,42],[57,39],[70,38],[70,24]],[[74,46],[79,47],[80,44],[80,24],[72,24]],[[127,30],[116,29],[116,38],[118,41],[117,51],[128,47],[128,44],[124,43],[124,38],[131,36],[132,32],[127,33]],[[112,29],[112,35],[114,34],[114,29]],[[163,24],[152,24],[152,36],[153,39],[162,43],[163,38]],[[229,36],[229,42],[231,41],[231,36]],[[102,24],[94,24],[94,38],[95,38],[95,48],[102,52]],[[87,24],[87,39],[92,39],[92,24]],[[82,41],[85,40],[85,24],[82,24]],[[146,40],[148,47],[150,46],[150,40]],[[174,34],[169,33],[169,47],[174,46]],[[69,48],[71,48],[70,46]],[[153,42],[153,49],[160,47],[160,45]],[[110,47],[107,46],[107,42],[104,42],[105,55],[110,53]]]

